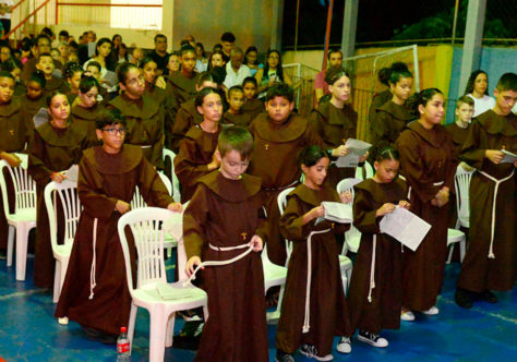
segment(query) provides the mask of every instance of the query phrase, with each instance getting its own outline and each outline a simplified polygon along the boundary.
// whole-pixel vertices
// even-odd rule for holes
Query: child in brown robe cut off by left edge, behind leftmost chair
[[[34,125],[23,110],[20,99],[13,99],[14,77],[11,73],[0,71],[0,159],[11,167],[20,166],[20,158],[14,153],[24,153],[31,141]],[[7,177],[8,194],[13,195],[12,181]],[[14,198],[9,200],[10,207],[14,207]],[[0,258],[5,257],[9,226],[5,220],[3,201],[0,194]]]

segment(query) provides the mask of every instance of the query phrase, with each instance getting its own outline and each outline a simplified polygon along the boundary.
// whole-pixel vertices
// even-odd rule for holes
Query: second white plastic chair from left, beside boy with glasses
[[[83,206],[79,200],[77,183],[69,180],[64,180],[61,183],[50,182],[47,184],[44,197],[50,226],[50,243],[53,257],[56,258],[53,302],[57,303],[67,275],[73,240]],[[62,205],[64,214],[64,240],[62,244],[58,244],[58,215],[56,212],[58,203]]]

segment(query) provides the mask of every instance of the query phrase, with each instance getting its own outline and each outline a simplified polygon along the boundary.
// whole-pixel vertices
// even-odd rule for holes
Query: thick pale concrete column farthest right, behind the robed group
[[[485,11],[486,0],[469,0],[458,96],[464,93],[470,73],[480,64]]]

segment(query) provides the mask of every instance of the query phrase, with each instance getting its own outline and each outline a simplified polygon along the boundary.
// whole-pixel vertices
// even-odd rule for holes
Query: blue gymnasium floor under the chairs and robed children
[[[85,339],[73,322],[68,326],[57,323],[51,292],[37,289],[32,282],[33,262],[27,262],[27,280],[20,282],[15,281],[13,268],[0,261],[0,361],[116,361],[115,346]],[[437,316],[418,315],[413,323],[402,322],[400,330],[384,331],[382,335],[389,340],[386,349],[352,339],[352,353],[334,352],[335,361],[516,361],[517,288],[497,293],[497,304],[479,302],[472,310],[461,310],[454,303],[458,272],[458,264],[447,266]],[[181,325],[181,321],[177,322],[176,329]],[[276,326],[268,327],[270,361],[275,357],[275,331]],[[131,360],[147,358],[148,314],[140,310]],[[193,358],[193,351],[166,349],[166,361]],[[314,361],[300,353],[296,360]]]

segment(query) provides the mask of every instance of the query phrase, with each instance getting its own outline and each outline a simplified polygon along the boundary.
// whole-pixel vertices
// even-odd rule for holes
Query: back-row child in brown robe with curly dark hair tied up
[[[413,76],[407,68],[392,71],[389,75],[392,100],[377,108],[375,117],[370,120],[372,143],[386,141],[395,144],[406,124],[413,119],[405,106],[411,94],[412,84]]]

